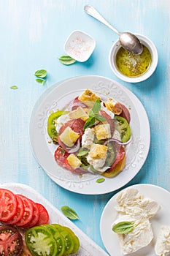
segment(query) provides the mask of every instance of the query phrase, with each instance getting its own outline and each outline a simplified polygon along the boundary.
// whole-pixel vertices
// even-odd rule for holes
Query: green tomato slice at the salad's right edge
[[[122,116],[115,116],[115,119],[119,124],[121,141],[124,143],[131,138],[131,128],[128,124],[128,121]]]

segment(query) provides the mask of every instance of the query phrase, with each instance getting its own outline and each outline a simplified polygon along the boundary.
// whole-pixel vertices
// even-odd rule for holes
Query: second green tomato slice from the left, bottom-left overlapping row
[[[59,233],[59,231],[57,230],[57,228],[55,228],[53,225],[43,225],[43,227],[47,227],[50,232],[53,235],[53,238],[55,238],[55,241],[57,243],[57,247],[58,247],[58,252],[56,253],[55,256],[62,256],[63,253],[65,252],[65,241],[63,236],[61,235],[61,233]]]

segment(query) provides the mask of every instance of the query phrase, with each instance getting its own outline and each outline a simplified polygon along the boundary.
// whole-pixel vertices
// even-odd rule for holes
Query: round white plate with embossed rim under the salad
[[[131,113],[132,143],[126,146],[125,168],[115,178],[105,178],[99,184],[96,182],[97,175],[86,173],[79,176],[58,166],[53,157],[57,146],[49,143],[51,139],[47,135],[47,118],[51,111],[61,110],[85,89],[112,97],[123,103]],[[120,83],[100,76],[82,76],[56,83],[42,94],[31,113],[30,139],[37,162],[56,184],[72,192],[98,195],[123,187],[142,168],[150,148],[150,124],[142,103]]]

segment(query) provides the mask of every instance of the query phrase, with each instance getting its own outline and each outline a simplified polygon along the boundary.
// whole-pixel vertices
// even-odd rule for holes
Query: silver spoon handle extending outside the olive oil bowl
[[[94,7],[90,6],[90,5],[85,5],[84,10],[86,13],[88,13],[88,15],[92,16],[93,18],[96,18],[96,20],[99,20],[101,23],[104,23],[104,25],[108,26],[109,29],[112,29],[113,31],[115,31],[116,34],[120,34],[119,31],[117,31],[117,29],[115,29],[113,26],[111,26],[107,20],[105,20],[99,12],[96,11],[96,9],[94,9]]]

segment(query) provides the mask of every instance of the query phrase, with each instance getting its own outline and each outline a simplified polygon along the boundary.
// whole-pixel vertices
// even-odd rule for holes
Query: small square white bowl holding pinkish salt
[[[83,31],[74,30],[66,39],[63,49],[73,59],[84,62],[90,58],[95,47],[96,42],[93,37]]]

